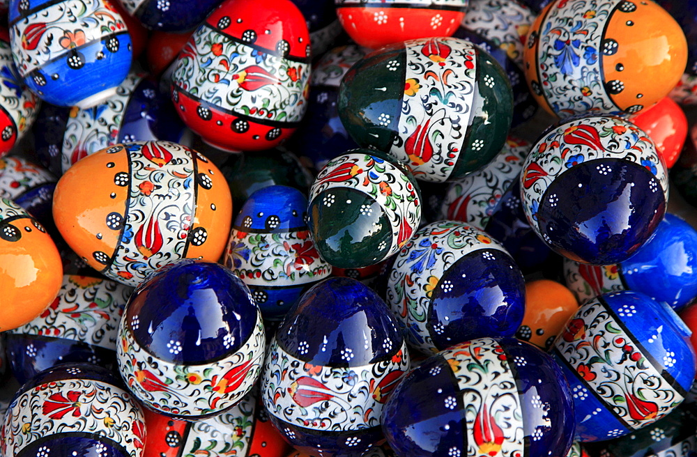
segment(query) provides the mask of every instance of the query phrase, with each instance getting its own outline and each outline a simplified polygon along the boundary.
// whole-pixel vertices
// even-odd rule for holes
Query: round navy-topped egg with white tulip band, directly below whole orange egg
[[[180,419],[220,414],[259,378],[265,336],[250,290],[217,263],[182,259],[126,305],[118,369],[149,408]]]

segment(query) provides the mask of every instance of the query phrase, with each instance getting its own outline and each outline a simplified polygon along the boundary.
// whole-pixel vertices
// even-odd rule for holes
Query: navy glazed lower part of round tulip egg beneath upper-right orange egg
[[[606,173],[597,166],[606,166]],[[560,204],[550,203],[552,195]],[[553,180],[540,199],[537,219],[549,245],[563,256],[610,265],[634,254],[665,212],[661,185],[648,169],[627,160],[598,159]]]

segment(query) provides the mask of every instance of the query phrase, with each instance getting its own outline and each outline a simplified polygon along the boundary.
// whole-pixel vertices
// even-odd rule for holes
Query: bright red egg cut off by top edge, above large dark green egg
[[[339,22],[360,46],[381,47],[404,40],[451,36],[468,0],[335,0]]]

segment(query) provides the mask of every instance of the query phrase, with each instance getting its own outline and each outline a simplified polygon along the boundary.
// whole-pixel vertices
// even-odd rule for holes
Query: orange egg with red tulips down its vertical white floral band
[[[232,219],[222,173],[195,150],[167,141],[103,149],[56,186],[54,219],[92,268],[137,286],[177,258],[217,261]]]

